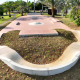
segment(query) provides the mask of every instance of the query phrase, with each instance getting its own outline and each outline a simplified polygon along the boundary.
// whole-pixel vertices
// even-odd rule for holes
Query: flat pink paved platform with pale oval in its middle
[[[37,17],[37,18],[33,18]],[[19,22],[19,25],[16,25]],[[29,25],[32,22],[41,22],[43,25]],[[31,15],[21,16],[6,26],[0,31],[1,34],[7,33],[13,30],[20,30],[19,36],[32,36],[32,35],[58,35],[55,29],[71,30],[66,25],[62,24],[59,20],[52,17],[43,15]]]

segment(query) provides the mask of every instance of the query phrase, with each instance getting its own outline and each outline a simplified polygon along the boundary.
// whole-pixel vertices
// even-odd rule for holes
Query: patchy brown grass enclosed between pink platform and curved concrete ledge
[[[19,31],[11,31],[3,34],[0,41],[1,45],[6,45],[16,50],[25,60],[31,63],[48,64],[56,61],[65,48],[76,41],[70,31],[57,31],[60,34],[59,36],[28,38],[19,38]]]

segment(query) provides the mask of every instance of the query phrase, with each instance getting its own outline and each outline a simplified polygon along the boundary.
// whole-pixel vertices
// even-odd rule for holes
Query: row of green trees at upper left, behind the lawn
[[[3,10],[2,10],[3,9]],[[34,10],[34,2],[25,2],[22,0],[17,0],[17,1],[7,1],[4,2],[2,5],[0,5],[0,10],[5,12],[9,12],[9,17],[11,17],[11,12],[13,11],[20,11],[21,15],[23,16],[23,12],[29,12],[30,10]],[[36,10],[41,10],[42,9],[42,4],[40,2],[36,2],[35,4],[35,9]]]

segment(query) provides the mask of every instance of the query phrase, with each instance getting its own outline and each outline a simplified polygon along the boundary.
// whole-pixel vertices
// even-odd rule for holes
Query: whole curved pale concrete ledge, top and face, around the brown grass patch
[[[72,30],[78,37],[80,31]],[[80,56],[80,42],[73,42],[63,52],[62,56],[50,64],[38,65],[24,60],[15,50],[0,46],[0,59],[12,69],[31,75],[49,76],[62,73],[76,64]]]

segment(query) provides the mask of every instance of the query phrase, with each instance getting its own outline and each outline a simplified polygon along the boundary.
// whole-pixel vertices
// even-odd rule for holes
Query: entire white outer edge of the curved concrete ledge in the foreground
[[[6,63],[9,67],[11,67],[12,69],[14,69],[16,71],[19,71],[22,73],[27,73],[27,74],[32,74],[32,75],[49,76],[49,75],[59,74],[59,73],[62,73],[64,71],[70,69],[72,66],[74,66],[76,64],[76,62],[79,59],[79,56],[80,56],[80,53],[77,52],[71,61],[69,61],[63,65],[49,67],[49,68],[33,68],[33,67],[29,67],[29,66],[20,65],[8,58],[0,57],[0,59],[4,63]],[[28,70],[28,72],[27,72],[27,70]],[[46,74],[43,74],[43,73],[46,73]]]

